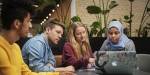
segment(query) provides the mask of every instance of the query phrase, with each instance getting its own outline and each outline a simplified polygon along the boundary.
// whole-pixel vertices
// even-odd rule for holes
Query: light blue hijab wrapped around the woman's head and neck
[[[120,32],[119,42],[117,44],[112,43],[110,38],[107,37],[108,44],[110,50],[122,50],[125,48],[125,44],[129,41],[128,37],[123,33],[123,25],[119,21],[111,21],[108,26],[108,30],[112,27],[115,27]]]

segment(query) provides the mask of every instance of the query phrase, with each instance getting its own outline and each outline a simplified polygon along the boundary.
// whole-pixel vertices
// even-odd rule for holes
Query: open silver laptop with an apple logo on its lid
[[[96,71],[112,75],[132,75],[136,68],[135,51],[98,51]]]

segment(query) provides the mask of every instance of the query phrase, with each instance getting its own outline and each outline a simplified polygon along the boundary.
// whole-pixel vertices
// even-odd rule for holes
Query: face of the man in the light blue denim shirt
[[[58,44],[60,38],[63,35],[63,28],[61,26],[55,25],[54,28],[47,28],[47,36],[48,39],[53,43],[53,44]]]

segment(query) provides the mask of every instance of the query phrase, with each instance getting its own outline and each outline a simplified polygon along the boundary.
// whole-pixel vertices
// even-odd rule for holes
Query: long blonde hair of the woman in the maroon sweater
[[[75,30],[77,27],[84,27],[86,29],[86,41],[83,43],[81,46],[76,38],[75,38]],[[74,52],[76,54],[77,59],[81,57],[91,57],[91,46],[89,44],[89,38],[88,38],[88,32],[87,32],[87,27],[81,23],[81,22],[74,22],[70,25],[68,35],[67,35],[68,42],[71,43]]]

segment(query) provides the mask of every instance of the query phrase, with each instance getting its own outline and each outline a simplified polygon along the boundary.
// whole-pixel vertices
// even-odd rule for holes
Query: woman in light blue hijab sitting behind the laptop
[[[120,21],[111,21],[108,26],[107,39],[100,51],[135,51],[135,45],[123,33],[123,25]]]

